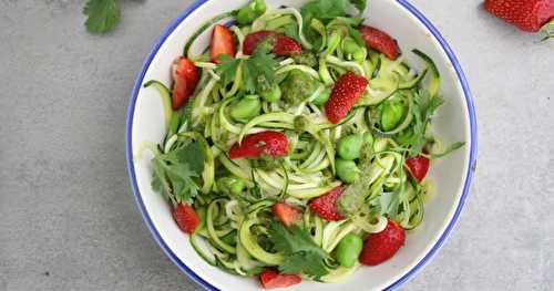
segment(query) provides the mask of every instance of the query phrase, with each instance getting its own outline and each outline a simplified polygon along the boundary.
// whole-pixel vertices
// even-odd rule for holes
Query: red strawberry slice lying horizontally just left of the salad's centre
[[[250,134],[243,138],[243,143],[233,145],[229,150],[229,157],[263,157],[263,156],[286,156],[288,153],[288,141],[284,133],[261,132]]]

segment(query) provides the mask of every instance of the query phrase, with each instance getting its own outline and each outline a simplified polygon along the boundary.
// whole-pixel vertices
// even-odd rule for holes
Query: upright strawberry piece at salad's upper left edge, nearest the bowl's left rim
[[[178,110],[185,105],[188,97],[196,90],[198,84],[199,73],[198,69],[186,58],[175,60],[172,66],[173,75],[173,94],[172,106],[173,110]]]

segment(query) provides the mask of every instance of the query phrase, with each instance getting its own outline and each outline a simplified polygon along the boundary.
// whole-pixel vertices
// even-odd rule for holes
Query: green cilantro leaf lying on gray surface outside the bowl
[[[90,32],[106,33],[120,23],[121,10],[117,0],[89,0],[83,13],[88,15],[85,25]]]

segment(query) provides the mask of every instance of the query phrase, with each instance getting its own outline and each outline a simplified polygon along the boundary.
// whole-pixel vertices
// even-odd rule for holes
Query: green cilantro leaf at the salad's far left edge
[[[152,188],[174,205],[187,202],[198,194],[196,178],[204,170],[204,149],[199,143],[187,143],[152,159]]]

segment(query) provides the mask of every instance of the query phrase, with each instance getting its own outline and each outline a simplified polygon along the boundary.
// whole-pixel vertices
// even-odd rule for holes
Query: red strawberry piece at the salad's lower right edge
[[[380,264],[392,258],[404,246],[404,229],[389,219],[383,231],[371,233],[366,238],[359,260],[367,266]]]

